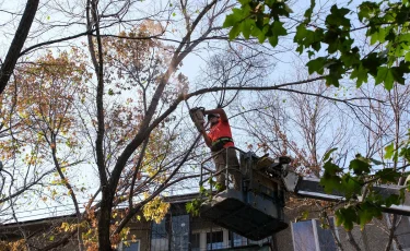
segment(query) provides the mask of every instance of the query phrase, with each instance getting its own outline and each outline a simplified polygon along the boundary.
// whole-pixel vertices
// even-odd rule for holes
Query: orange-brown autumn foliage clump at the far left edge
[[[84,55],[75,48],[57,56],[48,51],[34,63],[20,65],[14,85],[9,85],[0,99],[4,108],[0,116],[3,123],[12,124],[11,130],[19,131],[19,142],[24,144],[17,144],[14,138],[1,141],[0,158],[11,158],[13,151],[24,154],[25,146],[33,144],[36,148],[27,153],[25,163],[35,165],[44,158],[46,148],[56,148],[57,143],[62,143],[57,135],[67,135],[65,145],[74,146],[75,134],[69,134],[75,128],[71,111],[74,103],[85,97],[90,77]]]

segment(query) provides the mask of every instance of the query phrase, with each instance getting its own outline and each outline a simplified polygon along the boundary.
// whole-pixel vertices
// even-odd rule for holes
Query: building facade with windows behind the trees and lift
[[[247,239],[236,232],[214,225],[201,217],[187,214],[185,204],[194,195],[175,196],[169,200],[168,214],[160,222],[144,222],[133,219],[129,223],[130,236],[128,241],[118,246],[121,251],[204,251],[204,250],[243,250],[243,251],[382,251],[385,250],[389,227],[389,216],[367,224],[364,230],[355,227],[350,234],[341,227],[335,226],[335,218],[323,228],[315,202],[297,199],[286,203],[285,213],[289,227],[280,232],[272,234],[259,241]],[[309,218],[295,222],[302,212],[308,211]],[[315,213],[317,212],[317,213]],[[38,235],[36,241],[50,241],[49,229],[61,226],[61,223],[73,220],[74,217],[57,217],[42,220],[32,220],[19,224],[9,224],[0,227],[1,240],[17,240],[25,236]],[[23,230],[24,229],[24,230]],[[56,234],[54,234],[56,235]],[[410,219],[399,216],[397,241],[390,250],[410,250]],[[57,236],[56,236],[57,238]],[[353,238],[353,239],[352,239]],[[341,248],[340,248],[341,247]],[[359,248],[359,249],[358,249]],[[55,250],[78,250],[78,241],[73,237],[63,248]]]

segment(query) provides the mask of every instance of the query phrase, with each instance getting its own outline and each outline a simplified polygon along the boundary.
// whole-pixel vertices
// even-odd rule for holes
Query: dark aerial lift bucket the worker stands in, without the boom
[[[226,190],[202,203],[200,215],[250,240],[261,240],[288,227],[283,212],[284,193],[274,180],[255,171],[258,158],[253,153],[235,150],[241,153],[241,189],[226,186]],[[207,170],[211,178],[216,175],[202,164],[201,182],[202,170]]]

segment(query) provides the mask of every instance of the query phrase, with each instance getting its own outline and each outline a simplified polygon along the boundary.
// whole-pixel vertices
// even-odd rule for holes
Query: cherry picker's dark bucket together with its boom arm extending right
[[[326,193],[319,179],[301,177],[292,171],[289,157],[258,157],[251,152],[234,148],[241,156],[241,189],[230,189],[226,179],[227,189],[206,200],[200,207],[201,217],[221,227],[251,240],[261,240],[288,228],[289,220],[283,210],[286,192],[323,201],[345,201],[340,192]],[[200,186],[219,175],[204,165],[211,158],[201,165]],[[222,170],[226,171],[226,177],[227,170],[229,164]],[[394,184],[373,187],[382,196],[399,194],[402,188]],[[383,212],[410,216],[410,195],[406,193],[403,204],[383,207]]]

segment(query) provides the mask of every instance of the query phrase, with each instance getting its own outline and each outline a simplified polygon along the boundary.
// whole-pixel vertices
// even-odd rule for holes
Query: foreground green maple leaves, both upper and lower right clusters
[[[295,51],[308,57],[308,73],[321,75],[328,86],[339,87],[343,79],[351,79],[356,87],[372,82],[393,91],[395,85],[405,84],[410,72],[410,4],[407,0],[336,3],[320,19],[315,17],[318,11],[315,0],[303,16],[295,15],[286,0],[238,2],[239,7],[234,8],[224,22],[224,27],[230,28],[230,39],[242,35],[246,39],[255,37],[259,43],[268,40],[277,47],[282,38],[292,37]],[[363,38],[358,39],[358,34]],[[410,162],[409,136],[385,147],[385,162],[358,154],[348,169],[332,162],[336,148],[326,153],[320,183],[327,192],[343,192],[348,200],[336,211],[338,225],[347,229],[352,229],[354,223],[364,227],[373,217],[382,217],[382,205],[389,207],[405,200],[406,189],[401,194],[383,198],[372,188],[376,183],[405,183],[403,172]],[[399,158],[402,166],[397,165]],[[393,159],[394,167],[386,167],[387,159]]]

